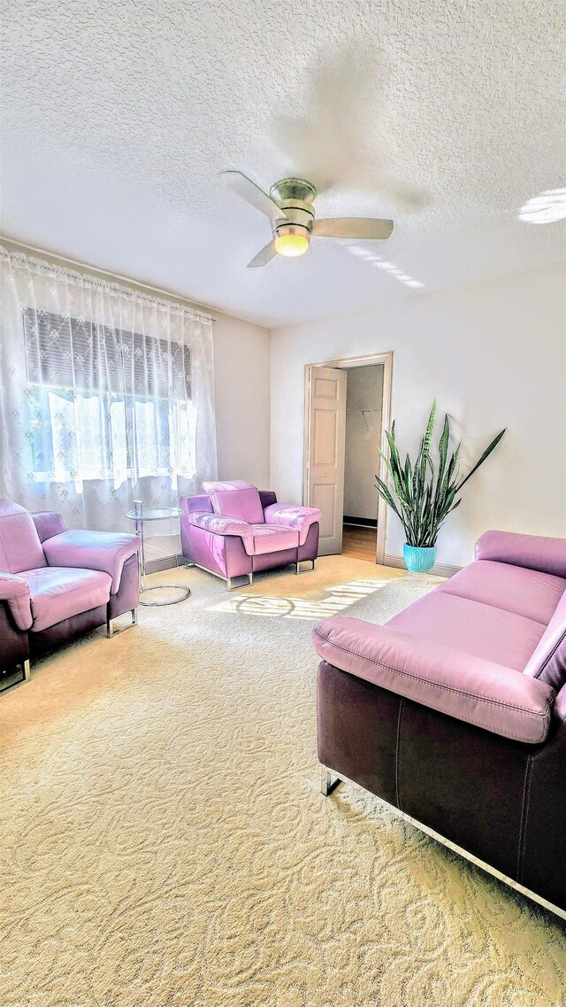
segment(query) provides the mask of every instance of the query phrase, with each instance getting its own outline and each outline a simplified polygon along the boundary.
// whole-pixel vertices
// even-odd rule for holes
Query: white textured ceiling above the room
[[[426,290],[556,262],[564,224],[517,211],[565,183],[564,22],[562,0],[12,0],[3,233],[270,326],[415,296],[322,239],[246,270],[268,222],[218,177],[305,170],[273,121],[315,115],[311,71],[346,46],[375,70],[355,110],[365,166],[431,201],[396,209],[350,165],[319,215],[393,217],[376,253]],[[316,183],[340,123],[314,123]]]

